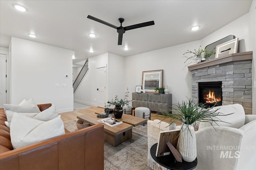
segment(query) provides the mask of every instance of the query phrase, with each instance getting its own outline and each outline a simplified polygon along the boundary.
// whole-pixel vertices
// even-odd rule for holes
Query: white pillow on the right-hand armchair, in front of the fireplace
[[[224,122],[217,121],[216,123],[219,126],[234,127],[239,129],[244,125],[245,113],[242,105],[230,104],[230,105],[224,105],[224,106],[217,106],[217,107],[213,107],[210,110],[216,110],[216,109],[218,109],[217,112],[224,114],[224,115],[220,114],[216,117],[212,117],[212,119],[224,121]],[[228,115],[230,113],[233,113],[233,114]],[[225,123],[225,122],[228,122],[228,123]],[[216,123],[213,122],[212,125],[218,126]],[[208,126],[211,126],[211,124],[208,122],[200,122],[198,130]]]

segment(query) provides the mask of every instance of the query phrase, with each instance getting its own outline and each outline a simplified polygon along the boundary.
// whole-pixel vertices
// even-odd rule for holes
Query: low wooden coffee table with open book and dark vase
[[[99,124],[100,122],[97,120],[102,119],[92,113],[85,113],[84,115],[77,116],[77,118],[89,123],[90,125]],[[123,123],[114,127],[104,125],[104,141],[113,147],[116,147],[120,143],[132,138],[132,126],[137,126],[147,122],[146,119],[125,114],[123,114],[122,118],[118,120]]]

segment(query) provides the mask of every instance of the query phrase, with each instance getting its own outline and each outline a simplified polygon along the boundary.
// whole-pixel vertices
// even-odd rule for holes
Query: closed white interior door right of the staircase
[[[105,107],[106,105],[106,67],[97,68],[97,106]]]

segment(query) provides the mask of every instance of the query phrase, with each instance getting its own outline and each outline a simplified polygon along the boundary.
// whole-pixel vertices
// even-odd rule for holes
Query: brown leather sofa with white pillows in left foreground
[[[52,104],[38,105],[40,111]],[[104,129],[93,125],[13,149],[4,109],[0,109],[0,170],[103,170]]]

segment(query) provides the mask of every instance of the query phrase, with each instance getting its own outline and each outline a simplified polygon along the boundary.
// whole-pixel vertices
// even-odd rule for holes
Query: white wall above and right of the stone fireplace
[[[252,59],[252,113],[256,114],[256,1],[252,1],[250,11],[240,18],[232,21],[217,31],[201,39],[201,45],[206,45],[222,39],[228,35],[235,35],[239,39],[239,52],[253,51]]]

